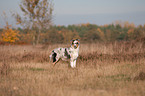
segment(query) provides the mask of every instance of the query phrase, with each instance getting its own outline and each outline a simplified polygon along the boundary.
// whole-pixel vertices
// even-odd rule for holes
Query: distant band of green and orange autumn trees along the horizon
[[[1,42],[33,44],[33,34],[39,29],[13,29],[7,26],[0,30]],[[134,26],[126,22],[124,24],[109,24],[99,26],[96,24],[78,24],[68,26],[50,26],[42,28],[40,44],[44,43],[69,43],[72,39],[80,39],[82,42],[113,42],[143,40],[145,38],[145,25]]]

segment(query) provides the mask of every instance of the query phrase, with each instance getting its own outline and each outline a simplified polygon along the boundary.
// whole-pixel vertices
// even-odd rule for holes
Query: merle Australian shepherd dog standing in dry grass
[[[60,59],[70,60],[70,66],[72,68],[76,67],[76,60],[79,56],[79,46],[80,40],[75,39],[71,41],[71,46],[68,48],[56,48],[51,52],[50,60],[53,60],[53,65],[55,65]]]

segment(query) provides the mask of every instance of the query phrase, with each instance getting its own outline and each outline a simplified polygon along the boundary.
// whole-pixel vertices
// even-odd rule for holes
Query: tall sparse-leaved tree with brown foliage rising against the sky
[[[51,0],[22,0],[23,16],[14,14],[17,24],[31,29],[33,44],[38,44],[42,29],[48,29],[52,23],[53,4]],[[23,18],[22,18],[23,17]]]

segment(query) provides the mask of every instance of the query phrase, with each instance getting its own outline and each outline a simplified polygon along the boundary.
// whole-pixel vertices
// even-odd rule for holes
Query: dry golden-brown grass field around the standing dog
[[[0,46],[0,96],[144,96],[145,44],[81,44],[77,68],[49,54],[68,45]]]

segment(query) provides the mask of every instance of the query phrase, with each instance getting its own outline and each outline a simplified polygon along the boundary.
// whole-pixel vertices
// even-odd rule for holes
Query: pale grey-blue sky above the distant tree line
[[[0,14],[5,11],[8,21],[15,26],[10,11],[21,13],[21,0],[0,0]],[[69,25],[92,23],[111,24],[117,20],[145,24],[145,0],[53,0],[53,23]],[[0,16],[0,27],[4,20]]]

